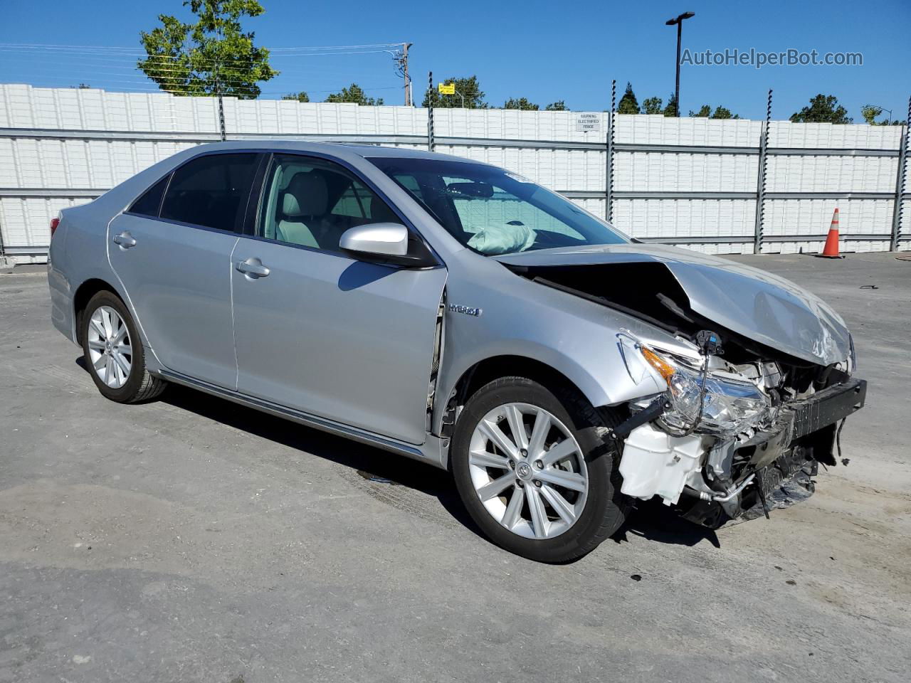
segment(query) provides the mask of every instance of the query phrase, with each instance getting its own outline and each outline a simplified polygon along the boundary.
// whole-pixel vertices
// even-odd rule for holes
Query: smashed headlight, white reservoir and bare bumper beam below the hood
[[[658,495],[712,528],[812,494],[818,463],[835,464],[837,423],[864,405],[866,393],[848,368],[828,368],[806,385],[800,368],[780,362],[727,362],[719,339],[700,331],[693,353],[681,356],[629,331],[617,335],[630,377],[657,373],[667,386],[631,405],[615,430],[625,441],[621,491]]]

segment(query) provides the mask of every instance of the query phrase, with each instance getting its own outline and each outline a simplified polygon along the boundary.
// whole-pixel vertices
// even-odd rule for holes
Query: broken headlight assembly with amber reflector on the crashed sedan
[[[704,367],[641,343],[639,350],[667,382],[670,408],[662,413],[660,423],[670,433],[698,431],[732,435],[769,419],[772,410],[769,397],[749,380],[739,381],[728,376],[728,372],[703,372]],[[708,357],[703,357],[703,363],[707,362]]]

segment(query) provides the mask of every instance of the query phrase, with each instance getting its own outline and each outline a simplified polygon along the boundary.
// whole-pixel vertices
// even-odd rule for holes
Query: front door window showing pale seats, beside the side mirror
[[[321,158],[276,154],[266,174],[257,235],[337,252],[349,228],[401,222],[347,168]]]

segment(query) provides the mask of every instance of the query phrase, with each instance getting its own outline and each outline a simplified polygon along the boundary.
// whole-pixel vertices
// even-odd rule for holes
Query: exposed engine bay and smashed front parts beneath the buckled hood
[[[693,311],[660,261],[512,270],[678,342],[661,348],[625,329],[614,340],[630,379],[651,375],[665,387],[625,406],[629,416],[612,434],[622,443],[623,494],[660,496],[717,528],[756,511],[768,515],[774,497],[794,483],[811,494],[818,464],[836,463],[839,423],[865,401],[866,382],[851,377],[853,344],[844,360],[823,365],[757,342]]]

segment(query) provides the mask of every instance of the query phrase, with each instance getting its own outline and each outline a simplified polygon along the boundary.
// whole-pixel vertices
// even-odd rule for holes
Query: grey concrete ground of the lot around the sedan
[[[429,466],[189,390],[107,402],[44,276],[0,275],[0,681],[906,681],[911,262],[736,260],[852,327],[850,464],[717,534],[645,505],[568,566],[486,542]]]

